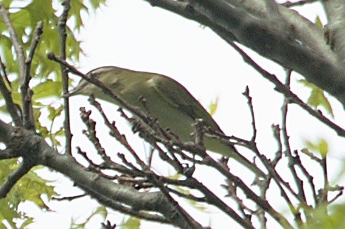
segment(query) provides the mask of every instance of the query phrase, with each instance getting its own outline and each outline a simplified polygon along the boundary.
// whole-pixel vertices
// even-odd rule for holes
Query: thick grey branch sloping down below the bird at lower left
[[[60,155],[51,148],[43,138],[21,128],[13,128],[0,120],[0,142],[8,149],[20,152],[20,156],[34,160],[35,164],[42,164],[69,177],[75,185],[93,197],[111,199],[131,207],[134,211],[154,211],[160,213],[171,224],[179,228],[201,228],[193,221],[186,222],[178,214],[176,207],[167,201],[162,192],[138,192],[134,188],[119,185],[86,169],[71,159],[70,155]],[[30,162],[32,162],[30,160]],[[103,203],[103,201],[100,201]],[[108,206],[112,207],[112,206]],[[116,210],[116,209],[115,209]]]

